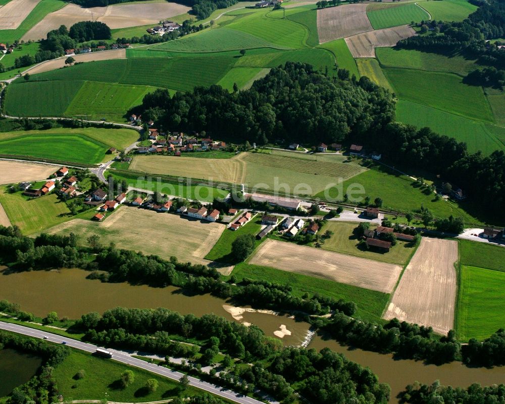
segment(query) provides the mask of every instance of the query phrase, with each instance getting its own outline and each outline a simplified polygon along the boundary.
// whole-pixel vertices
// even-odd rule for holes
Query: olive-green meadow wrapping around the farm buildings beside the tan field
[[[352,234],[354,229],[358,227],[358,224],[344,221],[328,221],[319,233],[322,235],[326,231],[331,231],[333,232],[333,236],[324,241],[322,248],[328,251],[400,265],[407,264],[407,261],[416,250],[412,243],[405,241],[398,241],[389,252],[384,254],[370,251],[366,248],[361,249],[358,247],[360,240]]]

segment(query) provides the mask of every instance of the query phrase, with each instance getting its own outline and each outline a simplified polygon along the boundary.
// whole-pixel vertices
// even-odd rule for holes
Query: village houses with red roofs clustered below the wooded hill
[[[154,142],[151,146],[137,148],[137,153],[174,152],[176,156],[180,156],[183,152],[226,149],[225,142],[215,142],[210,138],[198,141],[196,137],[184,136],[182,132],[172,132],[172,135],[167,137],[166,133],[160,133],[155,128],[149,128],[148,139]]]

